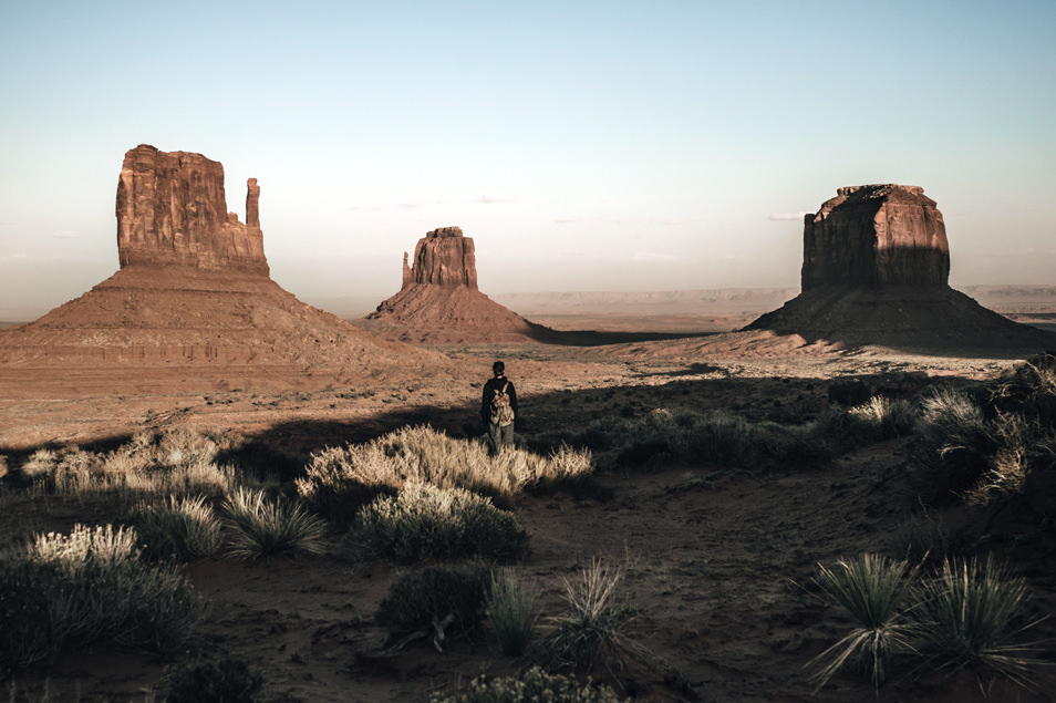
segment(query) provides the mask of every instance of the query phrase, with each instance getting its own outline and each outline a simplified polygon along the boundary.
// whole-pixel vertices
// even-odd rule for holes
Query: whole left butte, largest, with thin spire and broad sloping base
[[[446,362],[377,339],[272,281],[259,198],[250,178],[240,223],[227,211],[219,162],[148,145],[128,151],[117,182],[120,270],[42,318],[0,330],[0,392],[341,387],[407,363]]]

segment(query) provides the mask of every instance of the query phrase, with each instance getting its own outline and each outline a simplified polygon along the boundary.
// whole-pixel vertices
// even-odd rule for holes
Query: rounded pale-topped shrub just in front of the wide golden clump
[[[528,533],[488,498],[427,484],[404,487],[360,511],[345,537],[353,557],[389,557],[402,564],[480,557],[509,562],[528,555]]]

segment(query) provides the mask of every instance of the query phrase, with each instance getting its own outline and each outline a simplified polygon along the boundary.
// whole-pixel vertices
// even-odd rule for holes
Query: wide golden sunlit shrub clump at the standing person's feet
[[[527,487],[574,480],[591,471],[589,452],[556,447],[549,456],[524,449],[491,455],[479,442],[424,425],[313,454],[296,483],[301,498],[319,514],[350,524],[361,507],[407,484],[464,488],[506,502]]]

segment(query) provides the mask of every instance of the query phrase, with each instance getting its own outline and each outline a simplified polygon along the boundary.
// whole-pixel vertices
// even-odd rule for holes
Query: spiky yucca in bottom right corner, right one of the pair
[[[1021,576],[987,557],[949,559],[925,579],[914,611],[919,651],[925,665],[940,670],[972,669],[1005,676],[1029,688],[1042,661],[1035,643],[1016,640],[1039,620],[1023,619],[1028,600]]]

